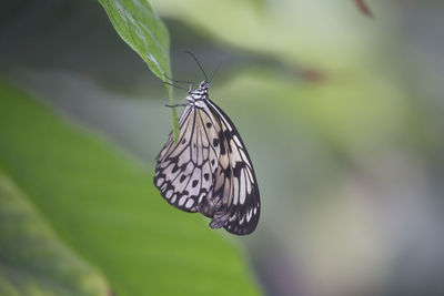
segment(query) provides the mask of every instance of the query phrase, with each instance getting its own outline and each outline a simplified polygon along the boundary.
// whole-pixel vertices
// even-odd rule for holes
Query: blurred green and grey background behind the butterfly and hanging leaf
[[[0,10],[0,295],[444,295],[444,2],[151,0],[236,124],[256,232],[152,185],[164,88],[95,1]],[[185,92],[175,91],[176,102]],[[40,293],[40,294],[39,294]]]

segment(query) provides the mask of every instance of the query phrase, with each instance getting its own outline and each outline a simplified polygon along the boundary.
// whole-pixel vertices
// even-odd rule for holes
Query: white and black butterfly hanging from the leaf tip
[[[198,62],[199,63],[199,62]],[[232,121],[209,99],[210,83],[190,85],[172,134],[157,157],[154,185],[173,206],[211,218],[210,227],[252,233],[261,213],[253,164]]]

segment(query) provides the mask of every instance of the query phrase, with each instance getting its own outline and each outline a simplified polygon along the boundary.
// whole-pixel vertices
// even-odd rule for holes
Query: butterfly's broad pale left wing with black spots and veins
[[[189,105],[180,119],[179,141],[171,134],[158,156],[154,185],[173,206],[196,212],[198,204],[213,191],[212,176],[218,167],[220,149],[216,123],[204,109]]]

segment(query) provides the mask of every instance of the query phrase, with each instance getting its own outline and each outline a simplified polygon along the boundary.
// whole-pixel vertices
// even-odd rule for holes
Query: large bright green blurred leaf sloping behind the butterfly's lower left
[[[170,206],[132,157],[1,83],[0,166],[119,296],[260,294],[224,231]]]

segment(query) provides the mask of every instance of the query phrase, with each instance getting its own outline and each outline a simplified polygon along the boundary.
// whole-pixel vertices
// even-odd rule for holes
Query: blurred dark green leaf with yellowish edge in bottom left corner
[[[0,171],[0,295],[109,295]]]

